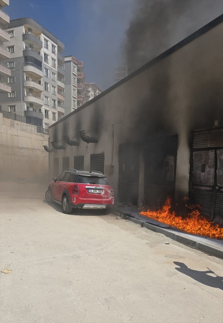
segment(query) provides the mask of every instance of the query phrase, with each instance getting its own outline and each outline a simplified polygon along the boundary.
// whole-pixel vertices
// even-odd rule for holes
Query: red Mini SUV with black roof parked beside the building
[[[96,171],[67,169],[50,182],[45,194],[46,201],[62,205],[63,213],[72,208],[109,209],[114,204],[113,188],[105,175]]]

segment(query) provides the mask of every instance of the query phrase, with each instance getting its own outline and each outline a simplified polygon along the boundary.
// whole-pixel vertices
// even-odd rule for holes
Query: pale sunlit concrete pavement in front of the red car
[[[1,323],[222,322],[220,259],[44,193],[1,183]]]

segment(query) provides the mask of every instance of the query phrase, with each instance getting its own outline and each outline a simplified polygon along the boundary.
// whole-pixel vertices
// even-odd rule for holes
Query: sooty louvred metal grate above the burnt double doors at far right
[[[223,128],[193,133],[193,149],[223,146]]]

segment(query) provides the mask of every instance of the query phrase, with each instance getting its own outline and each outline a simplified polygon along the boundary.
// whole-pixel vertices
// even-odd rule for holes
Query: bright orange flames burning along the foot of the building
[[[223,228],[220,228],[218,224],[209,222],[205,217],[200,215],[197,209],[190,212],[186,218],[176,215],[174,211],[171,211],[170,197],[166,199],[162,209],[158,211],[142,211],[140,214],[188,233],[223,239]]]

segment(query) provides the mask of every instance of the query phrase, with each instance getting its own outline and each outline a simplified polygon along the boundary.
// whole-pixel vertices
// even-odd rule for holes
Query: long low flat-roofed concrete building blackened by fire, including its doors
[[[105,172],[122,203],[154,210],[171,196],[183,212],[189,198],[223,224],[222,39],[223,15],[51,125],[64,149],[49,153],[50,177]]]

